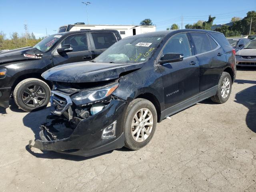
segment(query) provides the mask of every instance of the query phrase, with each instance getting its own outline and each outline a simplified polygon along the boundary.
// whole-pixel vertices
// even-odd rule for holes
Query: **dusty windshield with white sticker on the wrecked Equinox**
[[[133,36],[113,44],[94,62],[139,63],[148,60],[164,36]]]

